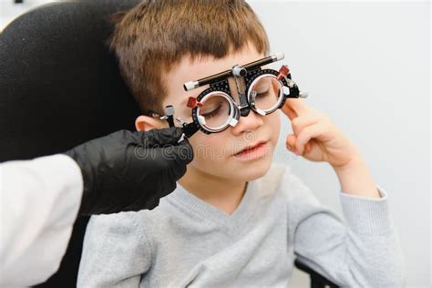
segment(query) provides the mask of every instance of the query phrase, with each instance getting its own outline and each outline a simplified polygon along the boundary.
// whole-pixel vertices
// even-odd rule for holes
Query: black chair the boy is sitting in
[[[49,4],[5,28],[0,34],[0,162],[54,154],[118,129],[134,129],[138,105],[105,43],[112,31],[108,15],[138,2]],[[76,286],[87,221],[77,220],[58,272],[38,287]],[[317,274],[303,268],[318,287],[312,276]]]

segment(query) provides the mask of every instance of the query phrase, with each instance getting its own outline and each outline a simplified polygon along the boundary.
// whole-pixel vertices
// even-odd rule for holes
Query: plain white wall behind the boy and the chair
[[[54,1],[15,2],[0,0],[0,30]],[[304,101],[345,131],[388,193],[406,256],[406,287],[431,287],[430,2],[248,2],[272,51],[284,53],[293,79],[309,92]],[[288,163],[341,214],[334,170],[287,152],[290,133],[283,117],[275,160]],[[290,286],[308,283],[296,271]]]

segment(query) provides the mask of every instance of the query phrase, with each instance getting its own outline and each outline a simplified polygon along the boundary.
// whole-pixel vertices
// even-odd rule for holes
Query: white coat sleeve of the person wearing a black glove
[[[57,272],[83,180],[66,155],[0,164],[0,286],[43,283]]]

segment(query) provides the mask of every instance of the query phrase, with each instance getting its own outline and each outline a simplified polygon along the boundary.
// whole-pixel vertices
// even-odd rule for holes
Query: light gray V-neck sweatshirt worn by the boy
[[[287,287],[297,257],[342,286],[400,287],[405,264],[386,192],[340,193],[345,221],[288,166],[248,183],[230,214],[180,185],[152,211],[93,216],[82,287]]]

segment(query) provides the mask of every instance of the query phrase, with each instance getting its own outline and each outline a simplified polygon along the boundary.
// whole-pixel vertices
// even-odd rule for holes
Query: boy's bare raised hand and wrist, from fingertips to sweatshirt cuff
[[[345,193],[380,198],[360,151],[327,115],[299,98],[288,98],[282,110],[294,133],[286,138],[287,149],[311,161],[328,162]]]

